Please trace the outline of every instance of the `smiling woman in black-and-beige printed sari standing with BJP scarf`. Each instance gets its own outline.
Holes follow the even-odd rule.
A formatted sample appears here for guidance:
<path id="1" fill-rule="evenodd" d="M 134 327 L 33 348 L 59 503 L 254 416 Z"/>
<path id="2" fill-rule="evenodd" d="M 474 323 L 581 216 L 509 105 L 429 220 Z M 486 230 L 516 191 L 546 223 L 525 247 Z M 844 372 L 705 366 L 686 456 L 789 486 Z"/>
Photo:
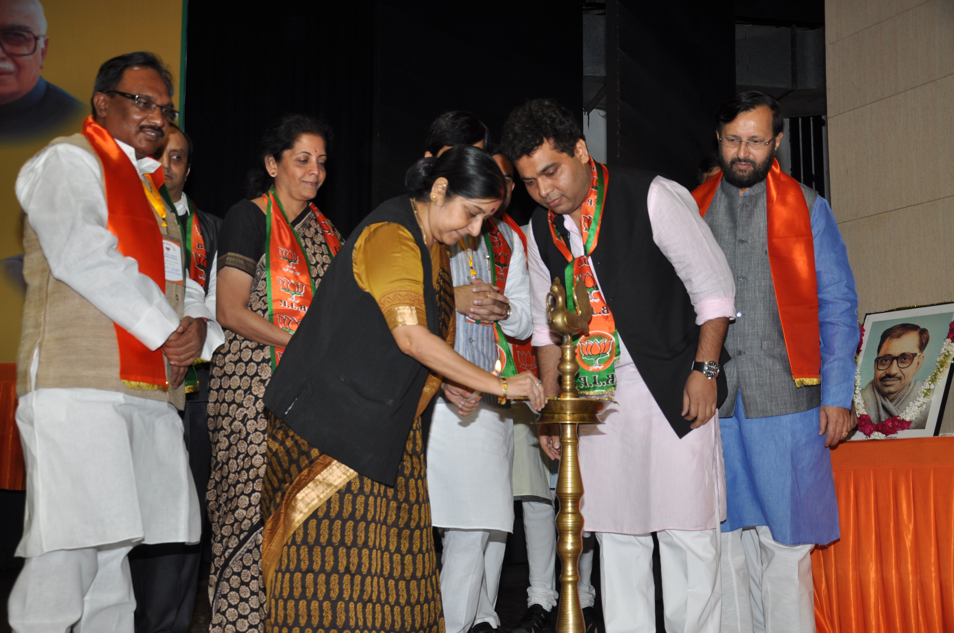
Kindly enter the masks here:
<path id="1" fill-rule="evenodd" d="M 259 572 L 267 419 L 262 396 L 341 237 L 311 200 L 324 182 L 330 129 L 282 118 L 261 142 L 251 200 L 225 217 L 218 242 L 218 322 L 225 344 L 209 389 L 212 476 L 210 630 L 263 631 Z"/>

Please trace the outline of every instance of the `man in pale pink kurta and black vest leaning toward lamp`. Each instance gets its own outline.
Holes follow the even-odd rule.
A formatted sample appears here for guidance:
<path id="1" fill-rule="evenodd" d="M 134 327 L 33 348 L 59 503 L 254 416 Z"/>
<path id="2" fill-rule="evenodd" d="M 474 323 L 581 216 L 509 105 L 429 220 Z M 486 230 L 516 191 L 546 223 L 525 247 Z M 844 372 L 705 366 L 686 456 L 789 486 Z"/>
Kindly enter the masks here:
<path id="1" fill-rule="evenodd" d="M 586 199 L 586 194 L 577 195 L 575 189 L 582 182 L 586 191 L 590 190 L 593 163 L 578 124 L 571 117 L 570 112 L 550 100 L 529 102 L 511 113 L 505 126 L 504 145 L 510 157 L 516 159 L 529 194 L 544 206 L 535 213 L 547 214 L 548 207 L 567 207 L 564 214 L 555 212 L 551 217 L 569 235 L 572 256 L 581 257 L 585 253 L 580 226 L 569 213 L 572 204 L 568 200 Z M 519 120 L 514 124 L 514 119 Z M 552 124 L 560 119 L 566 119 L 562 127 Z M 534 126 L 539 128 L 535 132 L 543 141 L 535 148 L 519 138 L 520 130 L 532 130 Z M 513 131 L 509 138 L 508 130 Z M 521 144 L 529 148 L 524 150 L 526 154 L 521 153 Z M 585 169 L 584 180 L 577 174 L 581 167 Z M 620 178 L 627 176 L 613 170 L 609 174 L 606 195 L 612 200 L 614 184 L 615 191 L 622 192 Z M 613 174 L 618 174 L 616 180 Z M 617 194 L 615 206 L 607 207 L 607 214 L 637 213 L 636 208 L 628 212 L 620 205 L 620 199 Z M 644 208 L 649 211 L 653 243 L 668 259 L 692 301 L 695 322 L 703 328 L 701 341 L 707 323 L 719 319 L 727 324 L 728 317 L 735 314 L 731 270 L 712 233 L 700 221 L 695 202 L 685 188 L 656 176 L 649 185 Z M 546 354 L 546 346 L 554 349 L 546 313 L 552 275 L 541 257 L 543 240 L 552 237 L 537 233 L 531 230 L 528 235 L 530 311 L 533 344 L 538 346 L 541 376 L 546 383 L 548 375 L 555 376 L 558 358 Z M 612 266 L 614 254 L 606 250 L 609 247 L 603 246 L 603 241 L 608 241 L 606 235 L 597 247 L 597 258 Z M 604 250 L 600 252 L 599 248 Z M 593 257 L 587 259 L 595 276 L 599 266 L 593 265 Z M 653 271 L 626 272 L 626 276 L 640 275 L 653 275 Z M 621 283 L 625 283 L 626 277 L 622 278 Z M 603 293 L 600 279 L 594 281 L 595 289 Z M 626 292 L 625 285 L 620 292 Z M 652 305 L 647 305 L 647 311 L 653 314 Z M 721 332 L 724 336 L 724 329 Z M 545 366 L 547 358 L 553 358 L 554 367 Z M 699 416 L 694 430 L 680 439 L 636 369 L 622 334 L 615 371 L 615 402 L 602 417 L 603 423 L 580 428 L 579 445 L 585 489 L 581 510 L 584 529 L 595 532 L 600 543 L 607 633 L 655 630 L 652 532 L 658 532 L 667 631 L 715 633 L 720 616 L 718 526 L 725 516 L 718 419 L 712 410 L 715 389 L 714 401 L 709 403 L 713 415 Z M 549 391 L 555 387 L 549 385 Z M 686 406 L 683 414 L 688 410 Z M 551 457 L 557 457 L 558 438 L 542 440 L 549 445 Z"/>

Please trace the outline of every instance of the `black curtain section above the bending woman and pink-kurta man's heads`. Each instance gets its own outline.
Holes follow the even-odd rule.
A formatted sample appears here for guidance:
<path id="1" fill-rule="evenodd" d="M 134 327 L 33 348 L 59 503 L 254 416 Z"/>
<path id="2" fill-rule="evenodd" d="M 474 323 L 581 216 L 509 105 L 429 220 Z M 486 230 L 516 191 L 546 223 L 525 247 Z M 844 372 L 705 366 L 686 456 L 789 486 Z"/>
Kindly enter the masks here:
<path id="1" fill-rule="evenodd" d="M 507 115 L 551 97 L 581 112 L 583 13 L 578 2 L 384 2 L 379 5 L 375 202 L 404 193 L 427 127 L 448 110 L 477 114 L 495 140 Z M 510 212 L 529 219 L 522 184 Z"/>

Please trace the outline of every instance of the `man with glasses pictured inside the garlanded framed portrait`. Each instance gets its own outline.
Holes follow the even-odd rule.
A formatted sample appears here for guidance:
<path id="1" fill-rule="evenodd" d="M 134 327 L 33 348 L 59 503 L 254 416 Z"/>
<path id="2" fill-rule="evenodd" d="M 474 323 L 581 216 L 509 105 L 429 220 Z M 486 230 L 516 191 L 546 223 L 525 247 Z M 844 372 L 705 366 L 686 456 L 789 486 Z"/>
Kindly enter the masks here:
<path id="1" fill-rule="evenodd" d="M 926 328 L 914 323 L 892 325 L 881 334 L 878 356 L 875 357 L 875 377 L 861 390 L 864 407 L 876 424 L 892 416 L 899 416 L 918 398 L 923 380 L 915 380 L 924 362 L 924 348 L 931 335 Z M 927 403 L 911 429 L 923 429 L 930 412 Z"/>

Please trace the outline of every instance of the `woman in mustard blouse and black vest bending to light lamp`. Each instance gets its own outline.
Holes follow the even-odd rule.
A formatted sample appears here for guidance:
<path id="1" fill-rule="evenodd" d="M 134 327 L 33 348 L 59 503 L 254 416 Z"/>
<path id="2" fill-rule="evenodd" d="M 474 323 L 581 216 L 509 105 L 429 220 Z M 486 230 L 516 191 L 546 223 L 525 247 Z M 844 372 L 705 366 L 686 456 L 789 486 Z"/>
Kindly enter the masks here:
<path id="1" fill-rule="evenodd" d="M 438 374 L 463 407 L 478 391 L 546 401 L 532 374 L 498 378 L 447 344 L 445 245 L 500 206 L 497 164 L 458 147 L 423 158 L 407 185 L 332 263 L 266 390 L 268 633 L 444 633 L 422 429 Z"/>

